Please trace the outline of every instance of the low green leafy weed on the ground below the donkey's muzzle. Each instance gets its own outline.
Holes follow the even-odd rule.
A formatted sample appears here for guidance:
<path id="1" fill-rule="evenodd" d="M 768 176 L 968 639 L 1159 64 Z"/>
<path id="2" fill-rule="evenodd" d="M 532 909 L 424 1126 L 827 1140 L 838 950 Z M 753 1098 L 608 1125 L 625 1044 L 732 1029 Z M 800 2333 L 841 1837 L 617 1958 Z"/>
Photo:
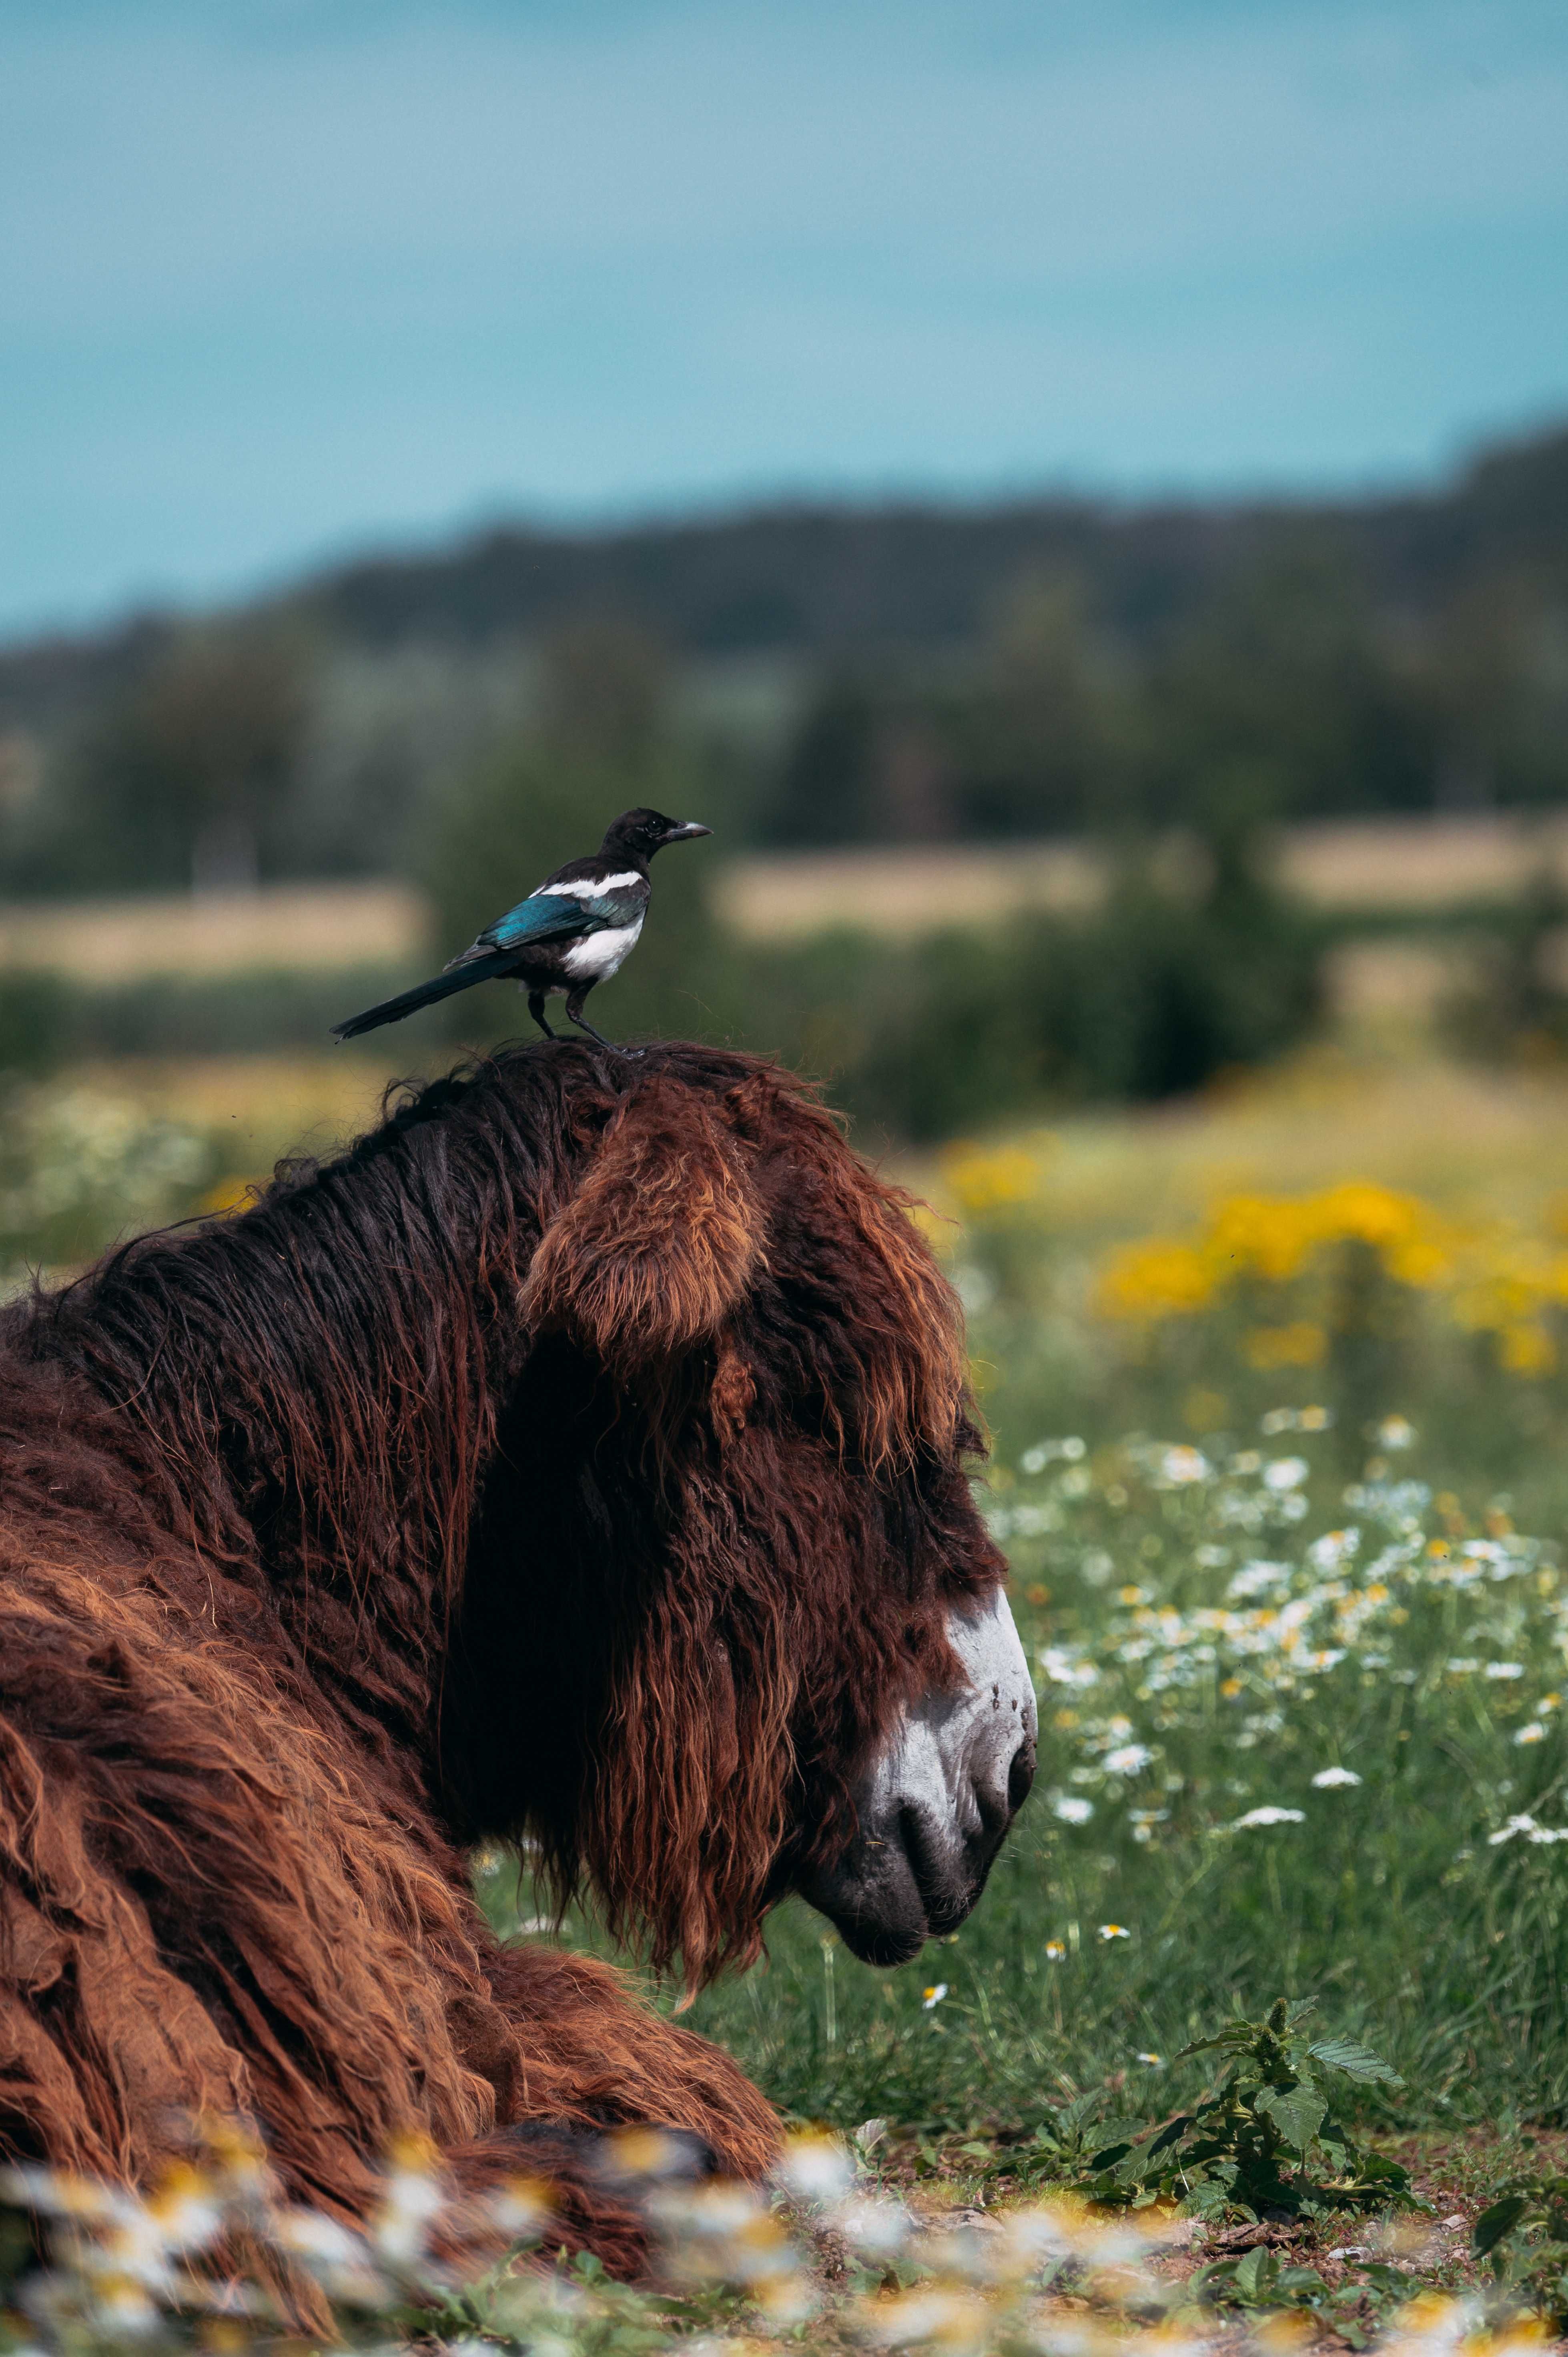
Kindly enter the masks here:
<path id="1" fill-rule="evenodd" d="M 1361 2147 L 1335 2112 L 1342 2081 L 1401 2086 L 1398 2072 L 1358 2039 L 1313 2039 L 1311 2013 L 1311 1999 L 1280 1999 L 1266 2020 L 1233 2020 L 1181 2048 L 1179 2062 L 1221 2055 L 1226 2077 L 1151 2131 L 1094 2126 L 1080 2098 L 1042 2131 L 1028 2173 L 1068 2180 L 1092 2201 L 1174 2199 L 1195 2218 L 1415 2206 L 1408 2173 Z"/>

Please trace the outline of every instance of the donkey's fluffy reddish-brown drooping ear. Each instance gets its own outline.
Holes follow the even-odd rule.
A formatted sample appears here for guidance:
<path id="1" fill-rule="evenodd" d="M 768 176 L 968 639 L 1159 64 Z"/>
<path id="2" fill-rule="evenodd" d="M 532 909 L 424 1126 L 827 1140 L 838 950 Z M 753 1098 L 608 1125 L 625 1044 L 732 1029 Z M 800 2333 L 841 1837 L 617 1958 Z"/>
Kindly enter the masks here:
<path id="1" fill-rule="evenodd" d="M 745 1148 L 705 1091 L 660 1075 L 615 1113 L 540 1237 L 523 1310 L 634 1376 L 719 1334 L 762 1244 Z"/>

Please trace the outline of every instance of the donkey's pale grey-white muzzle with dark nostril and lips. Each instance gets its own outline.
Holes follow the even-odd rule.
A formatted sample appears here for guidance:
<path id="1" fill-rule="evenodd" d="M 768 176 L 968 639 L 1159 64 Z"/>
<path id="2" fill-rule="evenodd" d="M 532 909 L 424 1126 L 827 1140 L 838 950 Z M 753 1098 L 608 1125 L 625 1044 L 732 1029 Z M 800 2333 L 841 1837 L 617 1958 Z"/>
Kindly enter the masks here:
<path id="1" fill-rule="evenodd" d="M 948 1622 L 967 1683 L 910 1704 L 858 1794 L 846 1855 L 802 1883 L 865 1963 L 964 1921 L 1035 1780 L 1035 1690 L 1004 1593 Z"/>

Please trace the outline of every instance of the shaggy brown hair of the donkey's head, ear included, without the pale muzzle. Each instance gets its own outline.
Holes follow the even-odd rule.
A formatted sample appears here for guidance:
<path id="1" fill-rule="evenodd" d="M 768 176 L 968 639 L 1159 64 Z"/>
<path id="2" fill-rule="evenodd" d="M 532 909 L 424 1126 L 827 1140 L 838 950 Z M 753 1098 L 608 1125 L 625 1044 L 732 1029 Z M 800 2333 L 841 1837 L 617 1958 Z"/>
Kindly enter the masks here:
<path id="1" fill-rule="evenodd" d="M 818 1848 L 844 1838 L 858 1756 L 915 1678 L 955 1666 L 941 1570 L 964 1577 L 974 1431 L 957 1303 L 910 1209 L 790 1075 L 665 1065 L 606 1124 L 526 1287 L 627 1386 L 622 1440 L 658 1461 L 667 1516 L 554 1864 L 693 1985 L 755 1954 L 802 1801 Z M 962 1499 L 948 1565 L 894 1560 L 891 1499 L 920 1520 L 920 1466 Z"/>

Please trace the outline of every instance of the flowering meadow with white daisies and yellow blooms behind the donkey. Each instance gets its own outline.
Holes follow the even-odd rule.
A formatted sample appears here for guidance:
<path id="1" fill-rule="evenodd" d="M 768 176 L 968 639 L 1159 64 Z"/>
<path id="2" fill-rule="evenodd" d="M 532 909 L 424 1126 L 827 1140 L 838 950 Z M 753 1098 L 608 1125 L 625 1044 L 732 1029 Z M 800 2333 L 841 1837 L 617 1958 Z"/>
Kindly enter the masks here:
<path id="1" fill-rule="evenodd" d="M 12 1273 L 243 1202 L 377 1082 L 31 1084 Z M 1568 1075 L 1363 1032 L 896 1174 L 969 1313 L 1035 1798 L 917 1963 L 872 1973 L 790 1902 L 759 1968 L 653 2001 L 889 2185 L 983 2206 L 1070 2178 L 1085 2121 L 1195 2100 L 1214 2065 L 1181 2048 L 1224 2018 L 1311 1999 L 1394 2072 L 1342 2091 L 1349 2128 L 1469 2225 L 1568 2126 Z M 479 1890 L 552 1935 L 526 1862 L 481 1857 Z"/>

